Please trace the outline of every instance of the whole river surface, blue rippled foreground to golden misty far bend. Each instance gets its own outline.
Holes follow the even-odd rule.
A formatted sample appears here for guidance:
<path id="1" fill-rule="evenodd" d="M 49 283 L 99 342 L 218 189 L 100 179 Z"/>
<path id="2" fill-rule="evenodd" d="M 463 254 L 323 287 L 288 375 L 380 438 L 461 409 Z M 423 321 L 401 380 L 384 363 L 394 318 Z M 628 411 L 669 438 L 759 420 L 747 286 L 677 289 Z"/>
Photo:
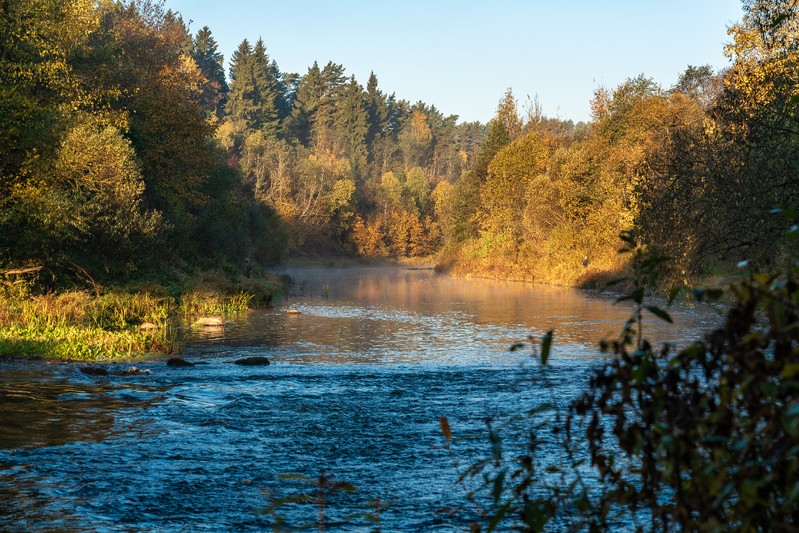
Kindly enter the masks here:
<path id="1" fill-rule="evenodd" d="M 0 530 L 252 531 L 279 517 L 318 528 L 316 504 L 266 512 L 316 495 L 285 476 L 298 474 L 357 489 L 325 498 L 328 530 L 369 530 L 379 507 L 385 531 L 462 531 L 476 509 L 457 480 L 489 453 L 484 420 L 564 409 L 607 357 L 597 342 L 629 316 L 608 296 L 426 269 L 288 273 L 287 302 L 187 330 L 182 357 L 204 363 L 193 368 L 144 361 L 147 375 L 98 378 L 71 364 L 0 365 Z M 684 343 L 719 321 L 672 315 L 673 326 L 649 320 L 647 336 Z M 549 329 L 547 367 L 508 350 Z M 249 356 L 272 364 L 233 364 Z M 557 461 L 557 437 L 543 440 Z"/>

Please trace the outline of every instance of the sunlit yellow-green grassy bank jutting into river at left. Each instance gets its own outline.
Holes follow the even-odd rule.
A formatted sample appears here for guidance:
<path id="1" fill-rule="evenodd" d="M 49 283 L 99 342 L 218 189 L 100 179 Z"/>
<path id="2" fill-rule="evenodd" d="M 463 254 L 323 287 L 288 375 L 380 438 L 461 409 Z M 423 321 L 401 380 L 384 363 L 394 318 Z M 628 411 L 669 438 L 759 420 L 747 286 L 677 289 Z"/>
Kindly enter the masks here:
<path id="1" fill-rule="evenodd" d="M 30 281 L 0 285 L 0 357 L 131 359 L 180 349 L 172 327 L 209 315 L 264 307 L 286 291 L 273 275 L 258 279 L 204 272 L 180 285 L 37 291 Z"/>

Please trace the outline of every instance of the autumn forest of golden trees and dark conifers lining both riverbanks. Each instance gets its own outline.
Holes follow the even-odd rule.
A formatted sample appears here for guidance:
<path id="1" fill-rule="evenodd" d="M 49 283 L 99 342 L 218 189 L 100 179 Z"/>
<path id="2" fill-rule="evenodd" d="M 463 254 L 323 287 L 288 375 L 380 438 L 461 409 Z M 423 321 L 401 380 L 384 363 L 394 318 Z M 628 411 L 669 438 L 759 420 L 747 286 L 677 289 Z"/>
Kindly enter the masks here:
<path id="1" fill-rule="evenodd" d="M 226 73 L 211 30 L 157 1 L 8 0 L 0 268 L 437 254 L 576 284 L 623 268 L 625 230 L 674 278 L 774 265 L 799 212 L 799 9 L 743 4 L 724 71 L 599 89 L 588 124 L 508 90 L 484 125 L 333 62 L 282 72 L 261 39 Z"/>

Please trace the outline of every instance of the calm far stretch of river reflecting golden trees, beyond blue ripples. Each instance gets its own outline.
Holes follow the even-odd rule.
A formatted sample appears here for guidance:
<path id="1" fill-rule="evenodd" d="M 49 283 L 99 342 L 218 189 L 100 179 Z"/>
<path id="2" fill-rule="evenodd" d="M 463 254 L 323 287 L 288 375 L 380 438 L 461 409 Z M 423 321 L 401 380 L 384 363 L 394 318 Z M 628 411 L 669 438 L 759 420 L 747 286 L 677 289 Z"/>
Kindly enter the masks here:
<path id="1" fill-rule="evenodd" d="M 285 309 L 255 311 L 228 327 L 225 341 L 269 346 L 312 362 L 507 364 L 513 342 L 555 330 L 555 351 L 597 357 L 630 315 L 606 295 L 564 287 L 465 280 L 432 270 L 391 267 L 295 268 Z M 327 293 L 327 297 L 324 297 Z M 685 344 L 717 317 L 707 309 L 670 311 L 674 325 L 651 317 L 645 334 L 655 342 Z M 290 353 L 280 354 L 281 348 Z M 285 352 L 285 350 L 284 350 Z"/>

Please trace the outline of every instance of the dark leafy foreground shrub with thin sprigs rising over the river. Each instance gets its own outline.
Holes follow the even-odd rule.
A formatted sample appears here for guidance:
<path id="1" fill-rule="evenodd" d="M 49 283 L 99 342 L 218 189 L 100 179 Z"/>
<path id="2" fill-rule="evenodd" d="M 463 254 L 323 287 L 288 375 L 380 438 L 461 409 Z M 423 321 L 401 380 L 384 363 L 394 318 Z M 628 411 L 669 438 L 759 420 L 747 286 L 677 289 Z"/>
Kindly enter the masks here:
<path id="1" fill-rule="evenodd" d="M 656 351 L 642 336 L 642 311 L 671 322 L 646 301 L 664 258 L 629 234 L 623 239 L 632 285 L 618 302 L 634 307 L 619 337 L 601 345 L 612 359 L 592 373 L 565 419 L 548 405 L 526 413 L 524 453 L 509 454 L 489 423 L 490 457 L 461 476 L 479 481 L 467 499 L 488 531 L 791 529 L 799 509 L 796 265 L 730 285 L 734 302 L 720 327 L 680 352 Z M 721 291 L 695 297 L 719 299 Z M 550 343 L 545 336 L 544 363 Z M 444 418 L 441 429 L 449 448 Z M 544 466 L 546 430 L 563 439 L 556 465 Z"/>

